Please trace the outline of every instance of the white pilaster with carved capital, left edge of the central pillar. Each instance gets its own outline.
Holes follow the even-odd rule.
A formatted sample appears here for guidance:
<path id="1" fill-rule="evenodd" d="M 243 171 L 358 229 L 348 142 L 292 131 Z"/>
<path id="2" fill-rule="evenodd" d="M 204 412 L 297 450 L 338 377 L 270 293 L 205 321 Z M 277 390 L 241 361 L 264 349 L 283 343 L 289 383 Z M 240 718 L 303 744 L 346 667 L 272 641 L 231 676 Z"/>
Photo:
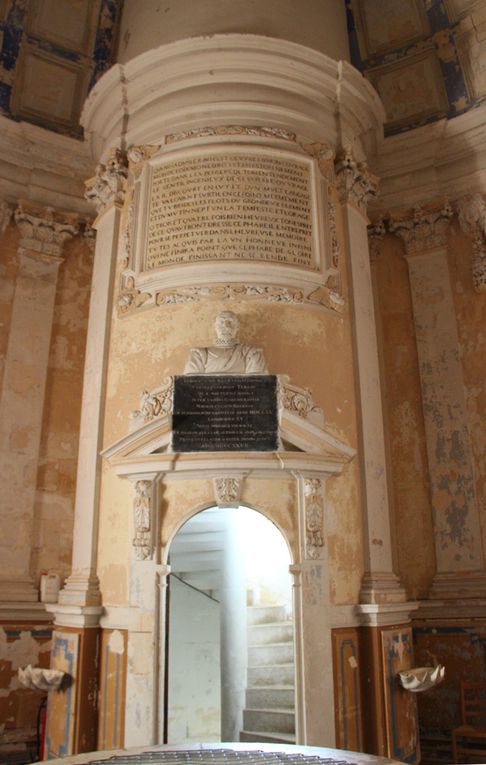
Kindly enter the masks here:
<path id="1" fill-rule="evenodd" d="M 65 625 L 69 624 L 69 614 L 76 616 L 79 624 L 79 609 L 97 608 L 101 599 L 96 575 L 100 450 L 113 270 L 118 251 L 120 208 L 124 199 L 126 176 L 126 163 L 121 153 L 115 151 L 106 165 L 98 167 L 95 178 L 87 183 L 86 196 L 96 204 L 98 217 L 93 223 L 97 237 L 81 408 L 73 562 L 72 573 L 61 590 L 59 604 L 51 609 L 56 613 L 57 623 L 62 620 Z"/>

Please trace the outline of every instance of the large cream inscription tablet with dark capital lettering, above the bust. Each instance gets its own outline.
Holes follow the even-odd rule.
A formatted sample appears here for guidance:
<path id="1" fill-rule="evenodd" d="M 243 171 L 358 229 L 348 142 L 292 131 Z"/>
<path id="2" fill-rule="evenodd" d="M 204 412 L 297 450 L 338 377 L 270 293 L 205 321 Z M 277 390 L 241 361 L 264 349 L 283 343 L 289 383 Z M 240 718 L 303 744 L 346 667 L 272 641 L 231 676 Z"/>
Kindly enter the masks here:
<path id="1" fill-rule="evenodd" d="M 307 161 L 225 152 L 154 169 L 143 270 L 229 259 L 317 268 Z"/>

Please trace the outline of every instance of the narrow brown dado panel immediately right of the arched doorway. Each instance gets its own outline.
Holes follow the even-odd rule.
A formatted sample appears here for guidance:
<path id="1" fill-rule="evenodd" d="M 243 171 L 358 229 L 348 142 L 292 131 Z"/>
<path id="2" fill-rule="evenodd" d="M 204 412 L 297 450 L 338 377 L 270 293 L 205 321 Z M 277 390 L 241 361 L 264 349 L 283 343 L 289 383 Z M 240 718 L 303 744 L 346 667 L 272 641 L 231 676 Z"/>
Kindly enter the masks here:
<path id="1" fill-rule="evenodd" d="M 359 631 L 356 627 L 332 631 L 336 746 L 363 749 Z"/>

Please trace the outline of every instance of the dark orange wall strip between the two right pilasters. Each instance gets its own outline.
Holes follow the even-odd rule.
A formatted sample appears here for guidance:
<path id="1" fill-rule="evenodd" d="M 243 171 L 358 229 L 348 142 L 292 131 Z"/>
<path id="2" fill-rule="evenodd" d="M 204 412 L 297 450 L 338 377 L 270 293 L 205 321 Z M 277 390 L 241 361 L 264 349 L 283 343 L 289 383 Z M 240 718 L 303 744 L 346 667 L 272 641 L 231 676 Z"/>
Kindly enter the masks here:
<path id="1" fill-rule="evenodd" d="M 397 573 L 409 598 L 424 598 L 435 573 L 434 532 L 412 302 L 400 241 L 386 237 L 372 272 Z"/>

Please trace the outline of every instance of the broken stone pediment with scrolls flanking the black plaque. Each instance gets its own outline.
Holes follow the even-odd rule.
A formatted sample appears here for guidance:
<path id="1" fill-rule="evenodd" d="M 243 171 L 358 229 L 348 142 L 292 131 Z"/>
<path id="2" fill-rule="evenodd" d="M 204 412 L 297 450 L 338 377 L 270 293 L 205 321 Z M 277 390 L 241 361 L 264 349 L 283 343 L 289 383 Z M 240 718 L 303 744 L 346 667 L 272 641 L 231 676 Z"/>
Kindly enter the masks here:
<path id="1" fill-rule="evenodd" d="M 173 378 L 152 391 L 143 391 L 140 408 L 130 415 L 129 432 L 103 451 L 119 475 L 199 473 L 202 470 L 319 471 L 340 473 L 355 450 L 325 426 L 324 415 L 309 390 L 278 376 L 279 449 L 272 452 L 173 452 Z"/>

